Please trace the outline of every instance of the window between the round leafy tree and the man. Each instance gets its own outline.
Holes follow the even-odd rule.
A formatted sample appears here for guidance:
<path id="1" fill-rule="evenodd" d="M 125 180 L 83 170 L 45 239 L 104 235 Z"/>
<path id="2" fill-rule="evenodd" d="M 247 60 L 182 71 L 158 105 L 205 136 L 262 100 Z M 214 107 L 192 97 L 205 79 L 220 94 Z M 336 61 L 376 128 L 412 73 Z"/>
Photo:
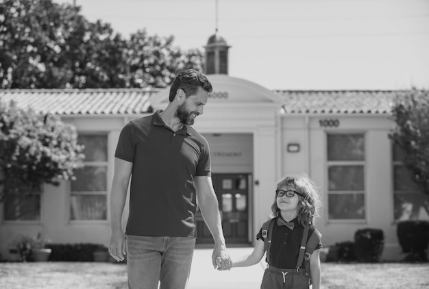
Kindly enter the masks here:
<path id="1" fill-rule="evenodd" d="M 108 136 L 79 134 L 84 145 L 84 167 L 71 181 L 70 219 L 107 220 Z"/>

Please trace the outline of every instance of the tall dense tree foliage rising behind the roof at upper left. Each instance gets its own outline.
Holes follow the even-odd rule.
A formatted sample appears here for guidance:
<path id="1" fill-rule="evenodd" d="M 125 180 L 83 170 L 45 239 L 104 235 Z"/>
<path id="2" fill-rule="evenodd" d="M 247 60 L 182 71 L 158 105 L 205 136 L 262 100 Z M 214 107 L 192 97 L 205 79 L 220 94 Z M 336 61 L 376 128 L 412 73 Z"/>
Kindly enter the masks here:
<path id="1" fill-rule="evenodd" d="M 0 31 L 0 88 L 164 87 L 180 69 L 203 68 L 201 51 L 173 36 L 141 29 L 126 40 L 52 0 L 3 1 Z"/>

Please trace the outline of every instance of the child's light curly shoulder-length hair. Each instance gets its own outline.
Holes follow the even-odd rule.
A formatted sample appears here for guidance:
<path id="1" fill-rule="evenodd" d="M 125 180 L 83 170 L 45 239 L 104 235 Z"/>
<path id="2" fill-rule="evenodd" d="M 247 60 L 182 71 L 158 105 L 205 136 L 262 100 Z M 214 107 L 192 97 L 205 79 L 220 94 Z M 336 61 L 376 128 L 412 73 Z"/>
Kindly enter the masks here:
<path id="1" fill-rule="evenodd" d="M 321 197 L 317 186 L 315 183 L 308 177 L 306 174 L 301 175 L 288 175 L 284 177 L 277 184 L 277 189 L 280 189 L 284 186 L 290 186 L 294 188 L 299 194 L 302 194 L 305 197 L 302 197 L 298 194 L 298 212 L 297 218 L 299 225 L 309 226 L 314 225 L 315 218 L 319 217 L 319 210 L 321 207 Z M 271 205 L 271 211 L 274 216 L 279 216 L 280 209 L 277 206 L 277 201 L 274 196 L 274 202 Z"/>

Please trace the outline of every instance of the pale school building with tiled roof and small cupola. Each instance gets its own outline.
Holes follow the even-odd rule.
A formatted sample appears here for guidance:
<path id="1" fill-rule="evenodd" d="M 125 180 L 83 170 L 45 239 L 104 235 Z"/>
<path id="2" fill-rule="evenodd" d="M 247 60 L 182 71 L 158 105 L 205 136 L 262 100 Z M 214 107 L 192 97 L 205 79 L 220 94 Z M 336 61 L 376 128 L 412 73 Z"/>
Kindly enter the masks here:
<path id="1" fill-rule="evenodd" d="M 195 121 L 212 157 L 227 245 L 254 244 L 271 213 L 277 181 L 307 173 L 323 197 L 317 228 L 325 247 L 353 240 L 357 229 L 384 231 L 383 260 L 402 260 L 398 221 L 428 220 L 428 198 L 409 180 L 389 140 L 392 90 L 267 90 L 228 75 L 226 41 L 206 45 L 214 91 Z M 58 114 L 77 127 L 86 146 L 77 180 L 45 184 L 25 202 L 0 204 L 0 252 L 17 234 L 38 232 L 53 243 L 107 244 L 114 150 L 128 121 L 164 109 L 169 88 L 1 90 L 3 101 Z M 168 165 L 168 164 L 167 164 Z M 27 212 L 23 214 L 23 212 Z M 125 226 L 127 205 L 123 216 Z M 197 244 L 212 242 L 197 212 Z"/>

